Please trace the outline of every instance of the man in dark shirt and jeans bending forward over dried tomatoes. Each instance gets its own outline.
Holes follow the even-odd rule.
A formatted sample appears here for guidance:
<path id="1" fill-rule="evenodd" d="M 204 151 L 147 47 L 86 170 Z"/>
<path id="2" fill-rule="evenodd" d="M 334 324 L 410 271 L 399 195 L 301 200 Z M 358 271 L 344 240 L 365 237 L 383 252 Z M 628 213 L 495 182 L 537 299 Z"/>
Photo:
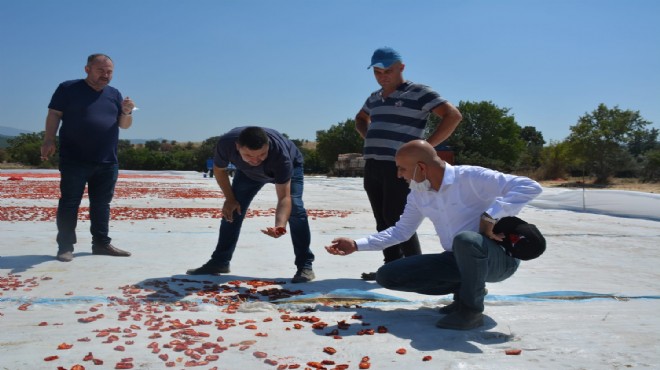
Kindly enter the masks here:
<path id="1" fill-rule="evenodd" d="M 230 184 L 227 166 L 233 163 L 236 174 Z M 225 195 L 218 244 L 211 259 L 188 275 L 229 273 L 241 225 L 252 199 L 266 183 L 277 192 L 275 224 L 262 232 L 273 238 L 291 227 L 297 272 L 292 283 L 314 279 L 314 254 L 309 248 L 310 231 L 303 196 L 303 157 L 295 144 L 279 132 L 261 127 L 237 127 L 224 134 L 215 147 L 213 173 Z"/>

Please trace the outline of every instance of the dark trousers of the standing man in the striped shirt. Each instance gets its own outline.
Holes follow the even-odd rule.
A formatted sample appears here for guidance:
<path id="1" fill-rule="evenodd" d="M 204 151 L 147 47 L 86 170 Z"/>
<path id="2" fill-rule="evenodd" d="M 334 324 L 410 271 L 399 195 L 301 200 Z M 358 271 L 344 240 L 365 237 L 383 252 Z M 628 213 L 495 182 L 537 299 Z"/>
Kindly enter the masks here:
<path id="1" fill-rule="evenodd" d="M 408 197 L 408 183 L 397 177 L 393 161 L 367 159 L 364 166 L 364 190 L 376 219 L 376 230 L 383 231 L 399 221 Z M 417 233 L 403 243 L 383 250 L 385 263 L 421 254 Z"/>

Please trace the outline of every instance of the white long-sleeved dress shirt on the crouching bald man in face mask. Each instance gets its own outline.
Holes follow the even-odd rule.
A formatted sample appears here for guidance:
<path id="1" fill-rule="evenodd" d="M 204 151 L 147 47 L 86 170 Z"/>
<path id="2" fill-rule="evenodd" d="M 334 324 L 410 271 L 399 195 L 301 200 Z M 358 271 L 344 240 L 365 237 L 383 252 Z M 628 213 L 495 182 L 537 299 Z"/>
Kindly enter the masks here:
<path id="1" fill-rule="evenodd" d="M 438 191 L 411 190 L 406 208 L 394 226 L 355 242 L 359 251 L 383 250 L 410 239 L 428 217 L 442 247 L 451 251 L 456 234 L 479 231 L 482 213 L 496 219 L 514 216 L 541 191 L 541 185 L 527 177 L 446 163 Z"/>

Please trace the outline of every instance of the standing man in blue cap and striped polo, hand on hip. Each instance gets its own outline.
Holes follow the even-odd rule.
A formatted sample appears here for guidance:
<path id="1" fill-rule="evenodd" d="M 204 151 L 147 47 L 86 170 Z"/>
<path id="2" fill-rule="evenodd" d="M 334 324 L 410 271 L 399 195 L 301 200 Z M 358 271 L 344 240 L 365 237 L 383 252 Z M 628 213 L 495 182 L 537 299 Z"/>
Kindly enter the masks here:
<path id="1" fill-rule="evenodd" d="M 376 229 L 385 230 L 399 220 L 406 205 L 408 183 L 397 177 L 394 156 L 411 140 L 424 139 L 431 112 L 442 119 L 426 140 L 439 145 L 451 135 L 463 118 L 461 113 L 437 92 L 403 78 L 401 55 L 389 47 L 377 49 L 371 57 L 376 81 L 381 89 L 373 92 L 355 117 L 355 128 L 364 138 L 364 190 L 376 219 Z M 383 250 L 385 263 L 421 253 L 417 234 Z M 363 273 L 375 280 L 375 273 Z"/>

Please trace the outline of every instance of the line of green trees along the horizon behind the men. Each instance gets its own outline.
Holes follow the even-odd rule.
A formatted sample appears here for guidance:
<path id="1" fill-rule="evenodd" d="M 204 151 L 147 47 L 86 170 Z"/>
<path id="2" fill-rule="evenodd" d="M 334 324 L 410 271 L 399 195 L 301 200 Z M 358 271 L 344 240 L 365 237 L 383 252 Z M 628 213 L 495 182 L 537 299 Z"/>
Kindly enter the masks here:
<path id="1" fill-rule="evenodd" d="M 535 127 L 521 127 L 509 108 L 489 101 L 461 101 L 458 109 L 463 121 L 443 143 L 454 152 L 456 164 L 525 174 L 537 180 L 566 176 L 593 176 L 597 184 L 606 184 L 612 177 L 660 180 L 659 132 L 648 128 L 652 123 L 639 111 L 600 104 L 577 119 L 566 139 L 546 143 Z M 440 117 L 432 115 L 426 133 L 441 123 Z M 43 132 L 21 134 L 9 139 L 9 146 L 0 149 L 0 161 L 56 168 L 57 156 L 48 161 L 40 158 L 43 135 Z M 201 143 L 151 140 L 131 144 L 129 140 L 119 140 L 119 166 L 126 170 L 205 172 L 206 160 L 213 157 L 217 140 L 218 136 Z M 306 173 L 328 175 L 333 174 L 339 154 L 360 153 L 363 145 L 353 119 L 317 131 L 315 148 L 306 145 L 307 140 L 292 141 L 305 157 Z"/>

